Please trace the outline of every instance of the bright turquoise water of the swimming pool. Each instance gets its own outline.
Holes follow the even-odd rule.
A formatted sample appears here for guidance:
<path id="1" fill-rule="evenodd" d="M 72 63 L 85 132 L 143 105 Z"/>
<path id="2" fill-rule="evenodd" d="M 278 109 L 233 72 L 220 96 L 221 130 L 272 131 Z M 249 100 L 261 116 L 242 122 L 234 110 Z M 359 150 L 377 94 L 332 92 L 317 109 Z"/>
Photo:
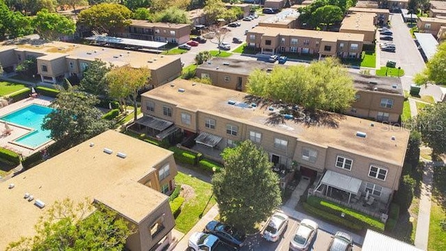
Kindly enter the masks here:
<path id="1" fill-rule="evenodd" d="M 49 137 L 49 130 L 43 130 L 43 118 L 47 116 L 54 109 L 51 107 L 45 107 L 43 105 L 29 105 L 18 109 L 15 112 L 7 114 L 0 117 L 3 121 L 8 121 L 10 123 L 15 123 L 20 126 L 25 126 L 27 128 L 33 128 L 34 130 L 28 134 L 15 139 L 14 142 L 28 146 L 31 149 L 36 149 L 38 146 L 45 144 L 51 140 Z"/>

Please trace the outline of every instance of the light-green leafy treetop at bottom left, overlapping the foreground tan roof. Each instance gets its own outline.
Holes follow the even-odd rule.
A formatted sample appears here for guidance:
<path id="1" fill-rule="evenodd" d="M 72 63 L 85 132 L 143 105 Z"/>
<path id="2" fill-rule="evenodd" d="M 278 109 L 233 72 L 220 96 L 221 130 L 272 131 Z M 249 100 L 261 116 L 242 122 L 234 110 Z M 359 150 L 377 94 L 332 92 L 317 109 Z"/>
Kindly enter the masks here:
<path id="1" fill-rule="evenodd" d="M 22 237 L 6 250 L 119 251 L 134 232 L 116 212 L 99 203 L 93 206 L 88 199 L 78 204 L 70 199 L 54 202 L 35 228 L 36 236 Z"/>

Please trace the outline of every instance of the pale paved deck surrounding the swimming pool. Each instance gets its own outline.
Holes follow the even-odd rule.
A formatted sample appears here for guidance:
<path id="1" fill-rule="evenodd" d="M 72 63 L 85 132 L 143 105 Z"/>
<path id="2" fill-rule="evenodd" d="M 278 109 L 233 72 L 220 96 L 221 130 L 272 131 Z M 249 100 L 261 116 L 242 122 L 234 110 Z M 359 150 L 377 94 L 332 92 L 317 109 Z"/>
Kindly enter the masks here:
<path id="1" fill-rule="evenodd" d="M 14 112 L 17 109 L 21 109 L 22 107 L 26 107 L 27 105 L 37 104 L 37 105 L 45 105 L 49 106 L 49 104 L 54 100 L 54 98 L 49 98 L 45 96 L 38 96 L 38 98 L 25 98 L 23 100 L 17 101 L 13 104 L 10 104 L 6 107 L 0 108 L 0 116 L 9 114 L 10 112 Z M 3 130 L 5 130 L 5 123 L 0 122 L 0 146 L 6 149 L 10 149 L 11 151 L 15 151 L 16 153 L 22 154 L 24 157 L 29 156 L 33 153 L 36 153 L 36 151 L 40 151 L 40 149 L 45 148 L 45 146 L 48 146 L 49 144 L 52 144 L 54 141 L 48 142 L 47 144 L 44 144 L 43 146 L 40 146 L 38 149 L 27 149 L 22 146 L 18 146 L 17 144 L 12 144 L 14 139 L 17 139 L 18 137 L 22 137 L 26 133 L 29 132 L 29 130 L 11 125 L 8 123 L 8 126 L 10 129 L 12 129 L 12 132 L 10 135 L 3 135 Z"/>

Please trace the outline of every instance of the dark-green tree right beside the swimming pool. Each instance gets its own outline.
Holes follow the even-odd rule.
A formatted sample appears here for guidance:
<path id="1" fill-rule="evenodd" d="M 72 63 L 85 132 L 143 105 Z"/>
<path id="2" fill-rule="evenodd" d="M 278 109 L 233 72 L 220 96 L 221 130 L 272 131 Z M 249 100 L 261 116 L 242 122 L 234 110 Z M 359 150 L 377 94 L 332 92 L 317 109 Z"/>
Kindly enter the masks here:
<path id="1" fill-rule="evenodd" d="M 45 116 L 42 128 L 51 130 L 56 141 L 75 145 L 110 128 L 109 121 L 101 119 L 101 112 L 94 105 L 98 98 L 81 91 L 61 91 L 52 102 L 54 111 Z"/>

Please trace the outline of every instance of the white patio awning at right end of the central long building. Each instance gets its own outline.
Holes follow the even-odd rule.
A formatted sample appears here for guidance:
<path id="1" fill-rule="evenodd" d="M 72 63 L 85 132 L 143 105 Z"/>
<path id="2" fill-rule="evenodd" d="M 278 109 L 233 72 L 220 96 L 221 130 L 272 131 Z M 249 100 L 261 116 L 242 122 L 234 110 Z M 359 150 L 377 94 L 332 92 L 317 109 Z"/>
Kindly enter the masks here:
<path id="1" fill-rule="evenodd" d="M 321 183 L 356 195 L 360 190 L 362 181 L 358 178 L 327 170 L 322 177 Z"/>

